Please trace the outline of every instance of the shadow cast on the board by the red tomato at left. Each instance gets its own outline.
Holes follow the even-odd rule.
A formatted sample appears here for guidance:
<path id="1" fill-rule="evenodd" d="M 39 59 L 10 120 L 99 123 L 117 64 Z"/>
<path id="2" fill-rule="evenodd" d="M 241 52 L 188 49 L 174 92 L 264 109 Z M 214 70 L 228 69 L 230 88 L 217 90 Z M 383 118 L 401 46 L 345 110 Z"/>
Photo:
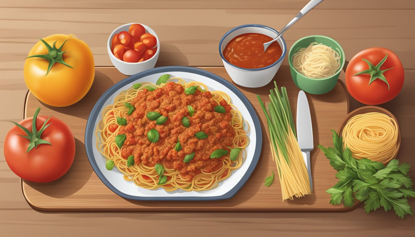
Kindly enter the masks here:
<path id="1" fill-rule="evenodd" d="M 75 159 L 71 168 L 61 177 L 49 183 L 36 183 L 24 180 L 31 188 L 54 198 L 64 198 L 80 190 L 91 177 L 93 169 L 85 152 L 85 145 L 75 139 Z"/>

